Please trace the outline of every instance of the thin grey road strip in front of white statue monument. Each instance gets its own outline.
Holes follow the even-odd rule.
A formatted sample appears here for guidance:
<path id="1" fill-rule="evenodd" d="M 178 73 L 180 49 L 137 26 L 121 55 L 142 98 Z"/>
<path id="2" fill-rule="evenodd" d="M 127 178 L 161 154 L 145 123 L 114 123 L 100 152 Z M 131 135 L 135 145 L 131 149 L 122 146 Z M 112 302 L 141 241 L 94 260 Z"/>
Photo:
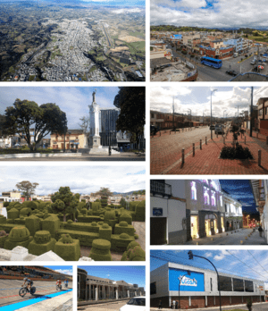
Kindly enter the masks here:
<path id="1" fill-rule="evenodd" d="M 68 156 L 68 157 L 21 157 L 13 159 L 1 159 L 3 161 L 145 161 L 145 155 L 81 155 L 80 157 Z"/>

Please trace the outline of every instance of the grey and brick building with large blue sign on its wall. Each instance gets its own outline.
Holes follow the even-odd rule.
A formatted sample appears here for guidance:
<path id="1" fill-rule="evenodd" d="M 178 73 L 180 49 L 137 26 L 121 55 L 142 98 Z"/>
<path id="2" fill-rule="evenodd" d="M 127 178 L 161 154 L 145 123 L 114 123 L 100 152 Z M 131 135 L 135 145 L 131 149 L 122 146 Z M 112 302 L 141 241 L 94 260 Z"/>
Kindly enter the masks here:
<path id="1" fill-rule="evenodd" d="M 182 309 L 219 307 L 217 274 L 211 270 L 189 265 L 167 263 L 151 272 L 151 307 L 172 307 L 172 301 L 179 302 Z M 237 275 L 219 273 L 222 306 L 264 302 L 264 282 Z"/>

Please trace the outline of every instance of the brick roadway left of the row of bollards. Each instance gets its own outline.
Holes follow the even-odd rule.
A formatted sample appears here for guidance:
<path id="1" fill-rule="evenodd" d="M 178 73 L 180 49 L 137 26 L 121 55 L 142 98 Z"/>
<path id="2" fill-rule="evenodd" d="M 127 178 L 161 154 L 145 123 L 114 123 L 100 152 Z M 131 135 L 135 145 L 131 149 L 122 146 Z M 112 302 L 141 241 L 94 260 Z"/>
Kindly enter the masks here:
<path id="1" fill-rule="evenodd" d="M 182 148 L 192 147 L 193 143 L 196 143 L 196 148 L 199 148 L 198 142 L 202 139 L 204 143 L 205 137 L 207 139 L 211 137 L 211 131 L 207 126 L 151 138 L 151 173 L 155 173 L 156 167 L 158 173 L 163 173 L 180 159 Z"/>

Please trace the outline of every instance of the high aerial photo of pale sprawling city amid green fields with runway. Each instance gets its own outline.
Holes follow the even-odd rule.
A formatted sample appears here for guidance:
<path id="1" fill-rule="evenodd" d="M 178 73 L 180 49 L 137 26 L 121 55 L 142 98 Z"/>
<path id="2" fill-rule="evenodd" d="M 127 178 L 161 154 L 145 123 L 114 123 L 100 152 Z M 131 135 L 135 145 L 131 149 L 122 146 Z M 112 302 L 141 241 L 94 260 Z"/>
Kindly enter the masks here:
<path id="1" fill-rule="evenodd" d="M 145 80 L 145 2 L 0 2 L 0 80 Z"/>

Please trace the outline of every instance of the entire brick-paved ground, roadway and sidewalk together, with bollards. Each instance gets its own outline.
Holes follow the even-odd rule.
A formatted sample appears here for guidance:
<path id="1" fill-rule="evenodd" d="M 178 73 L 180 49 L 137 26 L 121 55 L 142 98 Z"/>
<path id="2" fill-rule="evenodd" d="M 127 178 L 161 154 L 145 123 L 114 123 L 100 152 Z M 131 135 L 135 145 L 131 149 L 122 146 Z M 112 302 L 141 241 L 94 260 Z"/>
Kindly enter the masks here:
<path id="1" fill-rule="evenodd" d="M 199 131 L 199 130 L 197 130 Z M 199 132 L 200 133 L 200 132 Z M 182 133 L 181 133 L 182 134 Z M 185 133 L 184 133 L 185 134 Z M 182 135 L 184 135 L 182 134 Z M 203 134 L 203 132 L 202 132 Z M 177 134 L 178 135 L 178 134 Z M 254 134 L 255 135 L 255 134 Z M 172 137 L 172 135 L 170 135 Z M 207 135 L 206 135 L 207 136 Z M 175 138 L 175 135 L 173 135 Z M 201 133 L 199 134 L 201 137 Z M 155 140 L 154 140 L 155 139 Z M 267 174 L 268 173 L 268 150 L 264 146 L 264 139 L 257 141 L 255 138 L 250 138 L 246 134 L 246 145 L 244 143 L 244 136 L 239 137 L 239 143 L 243 147 L 248 147 L 252 152 L 253 160 L 228 160 L 220 159 L 219 155 L 222 150 L 223 138 L 219 136 L 213 140 L 209 140 L 207 145 L 199 147 L 199 139 L 196 140 L 196 154 L 192 155 L 192 144 L 190 147 L 185 148 L 185 164 L 181 165 L 181 149 L 182 147 L 170 148 L 169 144 L 173 145 L 171 139 L 166 139 L 164 136 L 161 138 L 151 139 L 151 174 Z M 158 139 L 165 139 L 160 141 Z M 181 137 L 178 136 L 180 141 Z M 152 147 L 152 140 L 154 144 Z M 225 140 L 225 146 L 231 146 L 232 134 L 229 133 Z M 192 141 L 193 142 L 193 141 Z M 178 144 L 179 146 L 179 144 Z M 158 155 L 155 157 L 156 149 L 158 153 L 162 154 L 162 148 L 165 150 L 163 156 Z M 262 164 L 258 166 L 258 150 L 262 150 Z M 153 153 L 153 157 L 152 157 Z"/>

